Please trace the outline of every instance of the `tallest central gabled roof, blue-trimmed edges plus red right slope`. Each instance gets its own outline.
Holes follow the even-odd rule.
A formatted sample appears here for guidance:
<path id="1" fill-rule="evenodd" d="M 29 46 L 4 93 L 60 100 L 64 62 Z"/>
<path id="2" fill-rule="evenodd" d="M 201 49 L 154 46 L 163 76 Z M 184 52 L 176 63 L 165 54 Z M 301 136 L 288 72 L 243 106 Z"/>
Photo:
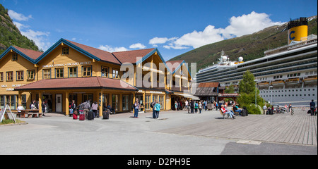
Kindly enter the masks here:
<path id="1" fill-rule="evenodd" d="M 66 44 L 67 46 L 70 46 L 71 48 L 75 49 L 76 51 L 80 52 L 81 54 L 88 56 L 89 58 L 95 59 L 96 61 L 105 61 L 108 63 L 114 63 L 117 65 L 120 65 L 121 63 L 117 60 L 116 57 L 112 55 L 112 53 L 108 51 L 103 51 L 100 49 L 96 49 L 90 46 L 86 46 L 84 44 L 78 44 L 76 42 L 71 42 L 70 40 L 66 39 L 59 39 L 57 43 L 55 43 L 53 46 L 51 46 L 47 51 L 45 51 L 40 58 L 37 58 L 36 63 L 42 60 L 42 58 L 45 58 L 51 51 L 53 51 L 59 44 L 61 43 Z"/>

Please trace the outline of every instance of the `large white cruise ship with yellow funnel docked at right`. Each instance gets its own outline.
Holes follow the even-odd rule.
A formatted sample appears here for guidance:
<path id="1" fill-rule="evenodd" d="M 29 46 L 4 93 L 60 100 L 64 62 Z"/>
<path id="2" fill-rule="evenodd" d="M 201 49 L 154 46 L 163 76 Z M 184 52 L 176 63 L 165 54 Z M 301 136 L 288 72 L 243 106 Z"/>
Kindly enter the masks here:
<path id="1" fill-rule="evenodd" d="M 305 32 L 305 33 L 304 33 Z M 259 95 L 271 104 L 317 104 L 317 35 L 307 36 L 307 18 L 288 23 L 288 45 L 264 52 L 252 61 L 229 61 L 221 52 L 220 61 L 196 73 L 196 82 L 220 82 L 220 86 L 238 84 L 249 70 L 257 79 Z"/>

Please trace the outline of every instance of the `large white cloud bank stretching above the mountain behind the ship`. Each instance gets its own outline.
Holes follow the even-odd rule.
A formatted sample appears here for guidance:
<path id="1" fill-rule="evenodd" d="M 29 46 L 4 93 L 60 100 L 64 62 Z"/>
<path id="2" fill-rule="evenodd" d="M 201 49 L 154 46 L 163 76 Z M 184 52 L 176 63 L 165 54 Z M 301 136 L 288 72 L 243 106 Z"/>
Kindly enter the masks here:
<path id="1" fill-rule="evenodd" d="M 189 46 L 198 48 L 206 44 L 252 34 L 266 27 L 282 24 L 281 22 L 274 23 L 266 13 L 256 13 L 254 11 L 248 15 L 232 16 L 229 23 L 230 25 L 225 28 L 216 28 L 213 25 L 208 25 L 203 31 L 194 30 L 179 38 L 154 37 L 149 40 L 149 44 L 165 44 L 163 46 L 165 49 L 187 49 Z"/>

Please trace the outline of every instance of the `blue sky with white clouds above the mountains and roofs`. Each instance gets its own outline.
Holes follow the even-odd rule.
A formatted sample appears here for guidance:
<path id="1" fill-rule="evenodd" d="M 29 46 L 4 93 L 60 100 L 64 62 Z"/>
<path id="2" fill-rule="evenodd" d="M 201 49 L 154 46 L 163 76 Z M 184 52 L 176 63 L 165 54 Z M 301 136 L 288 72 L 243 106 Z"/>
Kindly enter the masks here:
<path id="1" fill-rule="evenodd" d="M 105 51 L 158 48 L 165 61 L 200 46 L 317 15 L 317 0 L 0 0 L 43 51 L 64 38 Z"/>

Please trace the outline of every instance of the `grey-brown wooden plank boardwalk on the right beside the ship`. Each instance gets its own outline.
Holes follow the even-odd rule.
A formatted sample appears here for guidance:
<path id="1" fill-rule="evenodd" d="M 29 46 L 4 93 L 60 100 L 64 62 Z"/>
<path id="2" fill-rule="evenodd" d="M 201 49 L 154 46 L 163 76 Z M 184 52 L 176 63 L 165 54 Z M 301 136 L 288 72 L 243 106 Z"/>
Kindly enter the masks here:
<path id="1" fill-rule="evenodd" d="M 317 116 L 294 108 L 295 114 L 248 115 L 235 120 L 215 118 L 204 123 L 159 132 L 257 142 L 317 146 Z"/>

